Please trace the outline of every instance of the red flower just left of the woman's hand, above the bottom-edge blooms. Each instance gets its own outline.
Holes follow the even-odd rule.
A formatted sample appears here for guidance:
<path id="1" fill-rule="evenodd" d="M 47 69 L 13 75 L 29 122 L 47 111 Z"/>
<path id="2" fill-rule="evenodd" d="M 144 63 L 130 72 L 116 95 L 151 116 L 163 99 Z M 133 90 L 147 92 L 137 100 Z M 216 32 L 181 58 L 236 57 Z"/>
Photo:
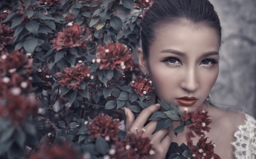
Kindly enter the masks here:
<path id="1" fill-rule="evenodd" d="M 88 124 L 89 132 L 92 139 L 98 136 L 103 137 L 106 141 L 117 141 L 117 133 L 119 132 L 119 119 L 113 119 L 109 115 L 100 114 L 93 119 L 92 123 Z"/>

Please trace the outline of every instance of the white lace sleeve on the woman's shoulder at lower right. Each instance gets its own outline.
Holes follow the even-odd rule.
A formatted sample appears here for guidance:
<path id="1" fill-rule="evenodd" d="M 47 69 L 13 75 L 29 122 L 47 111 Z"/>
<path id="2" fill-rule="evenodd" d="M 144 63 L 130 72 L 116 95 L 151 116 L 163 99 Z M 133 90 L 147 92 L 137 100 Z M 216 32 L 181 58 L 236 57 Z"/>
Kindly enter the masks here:
<path id="1" fill-rule="evenodd" d="M 236 140 L 234 146 L 234 156 L 237 159 L 256 158 L 256 121 L 250 115 L 245 114 L 245 124 L 238 126 L 234 134 Z"/>

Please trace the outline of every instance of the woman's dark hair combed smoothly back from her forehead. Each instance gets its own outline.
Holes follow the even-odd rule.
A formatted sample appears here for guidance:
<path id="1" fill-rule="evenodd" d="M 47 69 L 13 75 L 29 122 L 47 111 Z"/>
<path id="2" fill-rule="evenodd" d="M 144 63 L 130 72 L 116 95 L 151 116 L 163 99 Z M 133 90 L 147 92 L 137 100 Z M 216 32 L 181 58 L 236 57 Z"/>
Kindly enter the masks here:
<path id="1" fill-rule="evenodd" d="M 192 23 L 204 23 L 216 29 L 220 36 L 221 25 L 217 12 L 208 0 L 156 0 L 143 18 L 141 40 L 144 57 L 155 40 L 155 29 L 160 25 L 187 19 Z"/>

